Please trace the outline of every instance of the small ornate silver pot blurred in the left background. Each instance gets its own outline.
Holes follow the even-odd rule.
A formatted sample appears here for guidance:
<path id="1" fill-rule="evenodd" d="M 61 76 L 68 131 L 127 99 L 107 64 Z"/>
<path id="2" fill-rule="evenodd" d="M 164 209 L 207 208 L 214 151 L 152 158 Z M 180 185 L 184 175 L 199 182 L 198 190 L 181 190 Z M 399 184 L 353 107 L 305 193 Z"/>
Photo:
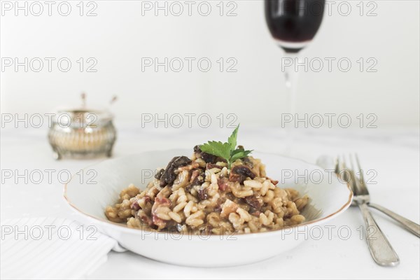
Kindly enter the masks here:
<path id="1" fill-rule="evenodd" d="M 48 140 L 56 160 L 111 157 L 116 141 L 109 111 L 61 110 L 52 118 Z"/>

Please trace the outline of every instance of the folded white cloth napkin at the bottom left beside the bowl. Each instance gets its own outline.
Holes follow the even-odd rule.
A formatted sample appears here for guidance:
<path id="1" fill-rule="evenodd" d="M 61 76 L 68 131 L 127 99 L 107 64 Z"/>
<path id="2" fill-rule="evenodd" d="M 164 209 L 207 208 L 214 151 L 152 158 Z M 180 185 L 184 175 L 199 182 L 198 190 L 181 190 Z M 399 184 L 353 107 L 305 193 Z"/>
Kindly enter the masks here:
<path id="1" fill-rule="evenodd" d="M 64 218 L 1 221 L 1 279 L 79 279 L 107 260 L 116 240 Z"/>

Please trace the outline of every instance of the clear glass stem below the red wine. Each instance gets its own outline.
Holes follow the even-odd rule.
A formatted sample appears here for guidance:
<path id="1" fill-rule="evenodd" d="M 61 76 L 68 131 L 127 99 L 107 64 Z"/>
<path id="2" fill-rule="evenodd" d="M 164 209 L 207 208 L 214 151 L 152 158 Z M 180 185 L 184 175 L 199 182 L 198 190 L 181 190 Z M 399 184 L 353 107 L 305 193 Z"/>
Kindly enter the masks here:
<path id="1" fill-rule="evenodd" d="M 299 76 L 297 63 L 299 57 L 296 53 L 286 52 L 283 63 L 284 78 L 286 80 L 286 116 L 284 120 L 290 120 L 286 125 L 286 155 L 292 155 L 292 144 L 295 140 L 295 120 L 296 116 L 296 98 L 297 98 L 297 78 Z M 290 65 L 291 64 L 291 65 Z M 286 66 L 290 65 L 290 66 Z"/>

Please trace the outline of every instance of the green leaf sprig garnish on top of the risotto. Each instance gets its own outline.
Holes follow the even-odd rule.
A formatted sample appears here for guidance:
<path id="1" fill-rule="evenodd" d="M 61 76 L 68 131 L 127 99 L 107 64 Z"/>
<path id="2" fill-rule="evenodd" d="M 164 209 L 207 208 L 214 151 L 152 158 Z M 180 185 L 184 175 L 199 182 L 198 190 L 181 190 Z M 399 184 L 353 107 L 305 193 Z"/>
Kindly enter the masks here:
<path id="1" fill-rule="evenodd" d="M 201 151 L 224 158 L 228 162 L 228 167 L 230 169 L 235 160 L 246 158 L 250 153 L 252 153 L 252 151 L 245 151 L 244 148 L 236 148 L 238 130 L 239 125 L 232 132 L 232 135 L 228 138 L 227 143 L 222 143 L 221 141 L 209 141 L 200 146 Z"/>

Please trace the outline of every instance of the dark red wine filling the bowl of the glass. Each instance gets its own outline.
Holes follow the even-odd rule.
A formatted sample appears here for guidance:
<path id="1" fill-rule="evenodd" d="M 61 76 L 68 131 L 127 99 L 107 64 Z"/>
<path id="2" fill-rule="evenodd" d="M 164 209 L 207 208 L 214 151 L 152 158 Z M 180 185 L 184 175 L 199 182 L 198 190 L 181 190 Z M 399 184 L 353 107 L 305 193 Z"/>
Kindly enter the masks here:
<path id="1" fill-rule="evenodd" d="M 325 0 L 265 0 L 265 20 L 286 52 L 298 52 L 321 25 Z"/>

